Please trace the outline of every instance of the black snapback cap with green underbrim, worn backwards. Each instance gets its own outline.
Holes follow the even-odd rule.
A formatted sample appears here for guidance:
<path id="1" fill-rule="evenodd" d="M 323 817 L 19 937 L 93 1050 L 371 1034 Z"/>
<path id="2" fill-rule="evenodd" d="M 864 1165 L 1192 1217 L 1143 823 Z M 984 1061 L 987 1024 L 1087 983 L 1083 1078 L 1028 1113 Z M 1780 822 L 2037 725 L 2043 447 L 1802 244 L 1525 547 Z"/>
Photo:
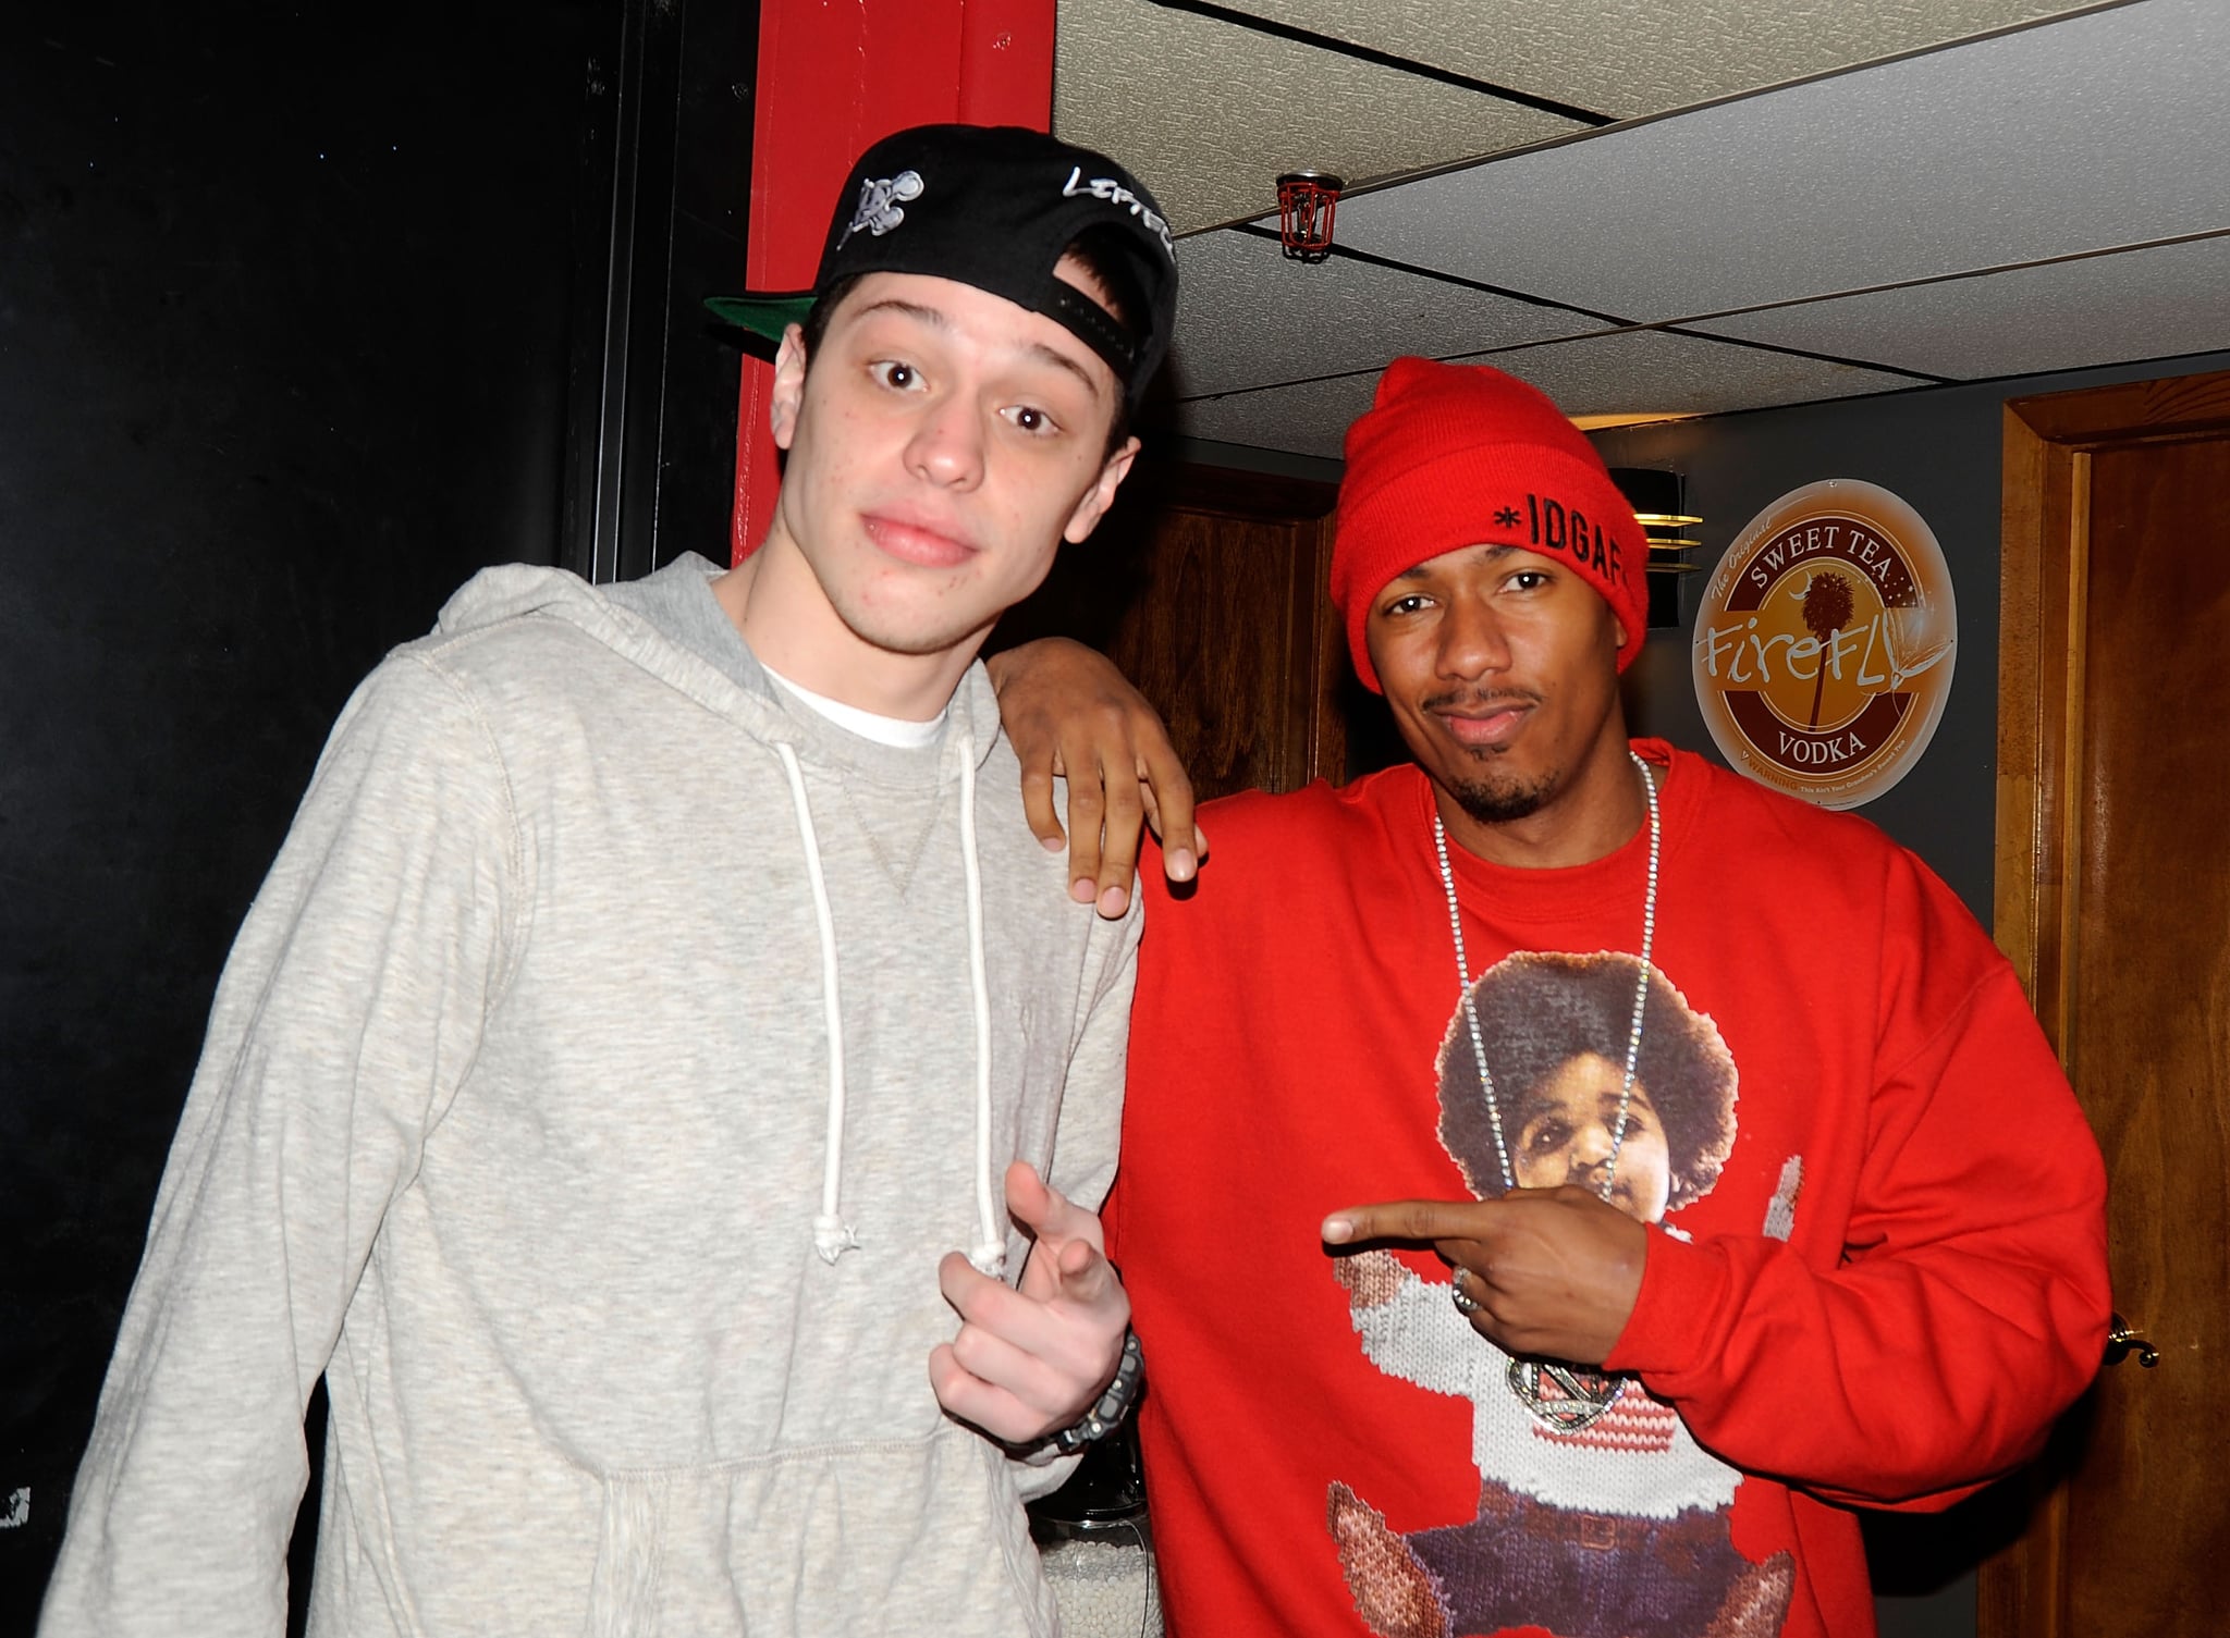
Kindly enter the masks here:
<path id="1" fill-rule="evenodd" d="M 1061 252 L 1093 227 L 1137 276 L 1137 334 L 1055 276 Z M 1041 312 L 1106 359 L 1137 408 L 1169 352 L 1177 254 L 1169 223 L 1122 165 L 1021 125 L 917 125 L 852 165 L 836 196 L 812 290 L 705 301 L 718 316 L 780 339 L 836 283 L 870 272 L 954 279 Z"/>

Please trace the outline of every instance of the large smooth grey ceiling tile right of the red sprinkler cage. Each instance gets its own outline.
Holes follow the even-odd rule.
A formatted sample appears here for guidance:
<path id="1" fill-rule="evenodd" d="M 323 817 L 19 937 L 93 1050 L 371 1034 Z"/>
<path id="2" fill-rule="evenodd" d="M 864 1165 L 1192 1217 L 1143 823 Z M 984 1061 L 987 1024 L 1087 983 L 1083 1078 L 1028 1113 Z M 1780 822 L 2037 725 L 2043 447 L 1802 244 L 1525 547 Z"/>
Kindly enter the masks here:
<path id="1" fill-rule="evenodd" d="M 2226 62 L 2230 4 L 2143 0 L 1367 194 L 1338 234 L 1664 321 L 2205 232 Z"/>

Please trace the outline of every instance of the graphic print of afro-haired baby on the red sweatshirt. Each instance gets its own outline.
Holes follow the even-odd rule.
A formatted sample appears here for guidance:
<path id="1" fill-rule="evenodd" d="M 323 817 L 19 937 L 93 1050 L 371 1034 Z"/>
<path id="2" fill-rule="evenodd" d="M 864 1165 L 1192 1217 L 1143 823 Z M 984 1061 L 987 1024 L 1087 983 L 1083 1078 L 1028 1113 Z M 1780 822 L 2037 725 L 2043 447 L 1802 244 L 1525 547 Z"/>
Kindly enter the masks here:
<path id="1" fill-rule="evenodd" d="M 1668 1223 L 1710 1192 L 1735 1145 L 1735 1061 L 1708 1014 L 1650 972 L 1626 1139 L 1610 1168 L 1632 1027 L 1635 956 L 1519 952 L 1470 989 L 1519 1188 L 1579 1183 Z M 1434 1061 L 1441 1143 L 1478 1199 L 1503 1192 L 1487 1094 L 1458 1003 Z M 1791 1159 L 1768 1232 L 1788 1235 Z M 1788 1553 L 1735 1551 L 1742 1473 L 1708 1455 L 1632 1377 L 1512 1359 L 1456 1313 L 1445 1281 L 1389 1252 L 1334 1261 L 1365 1357 L 1389 1377 L 1472 1402 L 1478 1511 L 1394 1529 L 1342 1482 L 1327 1527 L 1378 1638 L 1539 1627 L 1557 1638 L 1773 1638 L 1795 1587 Z"/>

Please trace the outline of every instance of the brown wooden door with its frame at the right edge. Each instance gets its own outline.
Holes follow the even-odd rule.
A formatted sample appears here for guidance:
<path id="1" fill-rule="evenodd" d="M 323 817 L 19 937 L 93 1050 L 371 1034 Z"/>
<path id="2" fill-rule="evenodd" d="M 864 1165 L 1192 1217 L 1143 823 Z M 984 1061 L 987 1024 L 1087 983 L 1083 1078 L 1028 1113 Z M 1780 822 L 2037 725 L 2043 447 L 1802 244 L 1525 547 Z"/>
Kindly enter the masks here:
<path id="1" fill-rule="evenodd" d="M 1982 1638 L 2199 1638 L 2230 1609 L 2230 372 L 2005 421 L 1998 943 L 2107 1159 L 2101 1371 Z"/>

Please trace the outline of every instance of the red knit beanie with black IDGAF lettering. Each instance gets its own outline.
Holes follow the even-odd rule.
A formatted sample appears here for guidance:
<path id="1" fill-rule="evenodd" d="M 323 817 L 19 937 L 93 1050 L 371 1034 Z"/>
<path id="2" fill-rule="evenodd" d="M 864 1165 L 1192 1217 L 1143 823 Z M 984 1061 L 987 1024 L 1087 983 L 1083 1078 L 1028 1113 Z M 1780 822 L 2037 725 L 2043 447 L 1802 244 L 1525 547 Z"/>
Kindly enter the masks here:
<path id="1" fill-rule="evenodd" d="M 1458 546 L 1568 562 L 1619 617 L 1619 671 L 1641 651 L 1648 537 L 1603 457 L 1543 392 L 1481 363 L 1394 359 L 1347 428 L 1331 606 L 1356 675 L 1383 693 L 1363 626 L 1403 571 Z"/>

